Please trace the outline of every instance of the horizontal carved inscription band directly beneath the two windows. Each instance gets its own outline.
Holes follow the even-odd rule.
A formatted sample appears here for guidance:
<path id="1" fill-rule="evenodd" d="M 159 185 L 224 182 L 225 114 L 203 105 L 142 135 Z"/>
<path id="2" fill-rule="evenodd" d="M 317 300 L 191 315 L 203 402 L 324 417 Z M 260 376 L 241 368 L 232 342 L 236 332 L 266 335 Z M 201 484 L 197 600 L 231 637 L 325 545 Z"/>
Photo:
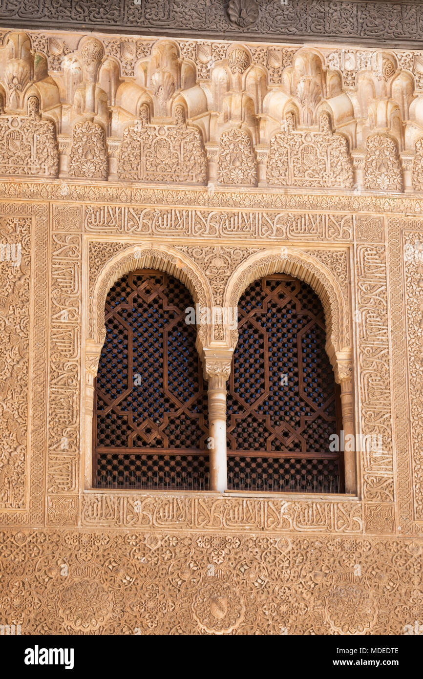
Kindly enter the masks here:
<path id="1" fill-rule="evenodd" d="M 259 498 L 185 496 L 110 496 L 82 498 L 83 526 L 125 526 L 168 530 L 283 530 L 294 532 L 362 533 L 360 502 L 318 502 Z"/>

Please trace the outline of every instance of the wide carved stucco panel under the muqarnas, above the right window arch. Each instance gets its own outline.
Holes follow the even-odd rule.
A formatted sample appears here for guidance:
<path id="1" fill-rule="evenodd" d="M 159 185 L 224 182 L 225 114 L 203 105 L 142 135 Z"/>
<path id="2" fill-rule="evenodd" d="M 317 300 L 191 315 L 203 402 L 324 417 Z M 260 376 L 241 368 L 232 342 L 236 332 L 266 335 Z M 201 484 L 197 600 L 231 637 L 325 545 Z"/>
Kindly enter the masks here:
<path id="1" fill-rule="evenodd" d="M 353 184 L 348 142 L 331 130 L 329 114 L 320 115 L 318 132 L 297 132 L 293 113 L 285 131 L 270 141 L 267 179 L 271 185 L 345 187 Z"/>

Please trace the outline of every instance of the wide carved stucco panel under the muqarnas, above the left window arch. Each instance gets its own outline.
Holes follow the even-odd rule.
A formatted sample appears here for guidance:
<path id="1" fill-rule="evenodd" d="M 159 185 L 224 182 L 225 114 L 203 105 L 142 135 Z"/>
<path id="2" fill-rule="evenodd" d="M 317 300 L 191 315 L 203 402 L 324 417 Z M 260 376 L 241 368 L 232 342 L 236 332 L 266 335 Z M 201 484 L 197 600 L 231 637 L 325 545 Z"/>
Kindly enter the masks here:
<path id="1" fill-rule="evenodd" d="M 151 125 L 149 109 L 124 131 L 119 154 L 119 179 L 204 184 L 206 157 L 199 130 L 188 127 L 183 107 L 175 110 L 176 124 Z"/>

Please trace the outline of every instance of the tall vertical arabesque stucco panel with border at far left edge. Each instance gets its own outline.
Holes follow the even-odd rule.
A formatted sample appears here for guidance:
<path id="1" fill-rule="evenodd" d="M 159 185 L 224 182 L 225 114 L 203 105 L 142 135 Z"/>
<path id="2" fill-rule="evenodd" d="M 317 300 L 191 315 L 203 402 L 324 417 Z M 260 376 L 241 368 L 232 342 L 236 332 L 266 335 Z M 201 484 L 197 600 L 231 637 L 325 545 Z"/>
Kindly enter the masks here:
<path id="1" fill-rule="evenodd" d="M 16 212 L 16 204 L 1 204 L 3 526 L 41 525 L 45 499 L 48 206 L 22 204 Z"/>

